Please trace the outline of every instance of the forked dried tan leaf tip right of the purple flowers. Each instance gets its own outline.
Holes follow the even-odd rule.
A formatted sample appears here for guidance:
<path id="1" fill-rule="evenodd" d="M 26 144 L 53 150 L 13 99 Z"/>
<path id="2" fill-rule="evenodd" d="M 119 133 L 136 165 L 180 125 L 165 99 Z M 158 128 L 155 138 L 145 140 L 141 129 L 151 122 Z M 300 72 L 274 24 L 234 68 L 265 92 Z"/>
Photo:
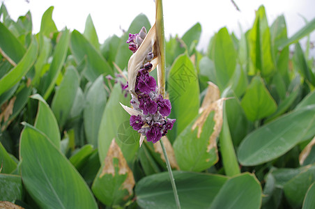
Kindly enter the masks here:
<path id="1" fill-rule="evenodd" d="M 220 91 L 215 84 L 208 82 L 208 90 L 199 112 L 201 115 L 197 118 L 194 125 L 192 125 L 192 130 L 198 127 L 197 137 L 201 136 L 203 125 L 206 122 L 210 112 L 214 111 L 213 121 L 215 125 L 213 127 L 213 133 L 209 137 L 209 144 L 207 147 L 207 152 L 210 152 L 212 148 L 217 151 L 217 137 L 219 136 L 223 123 L 223 103 L 226 98 L 220 98 Z"/>

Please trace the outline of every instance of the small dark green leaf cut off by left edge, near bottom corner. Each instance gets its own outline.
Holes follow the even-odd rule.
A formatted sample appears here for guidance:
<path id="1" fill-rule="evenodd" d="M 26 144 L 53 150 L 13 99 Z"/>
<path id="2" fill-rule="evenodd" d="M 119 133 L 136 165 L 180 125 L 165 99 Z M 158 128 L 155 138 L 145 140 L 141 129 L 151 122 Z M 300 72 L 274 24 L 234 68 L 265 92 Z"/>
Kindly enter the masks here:
<path id="1" fill-rule="evenodd" d="M 21 176 L 0 173 L 0 201 L 14 202 L 22 199 Z"/>

